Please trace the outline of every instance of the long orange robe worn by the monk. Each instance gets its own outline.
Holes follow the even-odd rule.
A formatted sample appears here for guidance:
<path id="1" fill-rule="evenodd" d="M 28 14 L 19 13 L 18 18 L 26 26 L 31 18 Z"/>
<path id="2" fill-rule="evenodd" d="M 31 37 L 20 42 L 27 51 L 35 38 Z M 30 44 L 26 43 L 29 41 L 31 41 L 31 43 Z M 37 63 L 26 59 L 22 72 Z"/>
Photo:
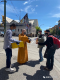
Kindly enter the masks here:
<path id="1" fill-rule="evenodd" d="M 19 34 L 19 40 L 24 42 L 24 47 L 20 47 L 18 49 L 18 58 L 17 62 L 23 64 L 28 61 L 28 51 L 27 51 L 27 43 L 30 43 L 28 37 L 23 34 Z"/>

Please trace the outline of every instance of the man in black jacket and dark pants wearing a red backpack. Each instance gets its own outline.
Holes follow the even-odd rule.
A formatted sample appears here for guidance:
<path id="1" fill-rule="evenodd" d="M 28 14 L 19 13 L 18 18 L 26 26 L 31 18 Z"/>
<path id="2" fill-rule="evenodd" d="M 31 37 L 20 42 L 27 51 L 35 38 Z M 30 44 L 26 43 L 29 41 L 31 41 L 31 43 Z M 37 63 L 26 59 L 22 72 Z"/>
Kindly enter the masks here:
<path id="1" fill-rule="evenodd" d="M 52 37 L 48 37 L 49 33 L 50 33 L 49 30 L 45 31 L 45 35 L 47 37 L 47 40 L 44 43 L 36 42 L 36 44 L 47 45 L 47 49 L 48 49 L 47 50 L 47 63 L 46 63 L 46 67 L 44 69 L 50 71 L 50 70 L 53 69 L 55 49 L 52 47 L 53 46 L 53 38 Z"/>

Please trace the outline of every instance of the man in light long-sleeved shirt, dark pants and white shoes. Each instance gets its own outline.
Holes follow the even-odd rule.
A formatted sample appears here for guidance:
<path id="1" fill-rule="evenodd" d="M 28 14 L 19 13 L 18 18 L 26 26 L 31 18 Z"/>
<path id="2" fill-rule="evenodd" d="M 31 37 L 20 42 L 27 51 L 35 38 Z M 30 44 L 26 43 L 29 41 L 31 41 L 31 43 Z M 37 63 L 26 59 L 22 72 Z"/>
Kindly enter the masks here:
<path id="1" fill-rule="evenodd" d="M 10 25 L 10 29 L 8 29 L 4 35 L 4 49 L 6 52 L 6 71 L 14 72 L 14 69 L 11 68 L 11 57 L 12 57 L 12 48 L 11 48 L 11 42 L 16 42 L 17 44 L 20 43 L 20 41 L 17 41 L 15 39 L 12 39 L 12 32 L 14 32 L 16 29 L 15 24 Z"/>

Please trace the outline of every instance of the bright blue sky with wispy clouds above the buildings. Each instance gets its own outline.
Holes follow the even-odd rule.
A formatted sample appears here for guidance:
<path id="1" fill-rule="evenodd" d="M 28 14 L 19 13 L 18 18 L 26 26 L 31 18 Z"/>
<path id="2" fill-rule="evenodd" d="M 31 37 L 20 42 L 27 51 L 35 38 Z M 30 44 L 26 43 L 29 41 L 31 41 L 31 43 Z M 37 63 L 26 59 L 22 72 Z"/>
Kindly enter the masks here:
<path id="1" fill-rule="evenodd" d="M 4 2 L 0 0 L 0 22 L 4 15 Z M 6 16 L 19 21 L 28 13 L 29 19 L 38 19 L 42 31 L 58 25 L 60 0 L 7 0 Z"/>

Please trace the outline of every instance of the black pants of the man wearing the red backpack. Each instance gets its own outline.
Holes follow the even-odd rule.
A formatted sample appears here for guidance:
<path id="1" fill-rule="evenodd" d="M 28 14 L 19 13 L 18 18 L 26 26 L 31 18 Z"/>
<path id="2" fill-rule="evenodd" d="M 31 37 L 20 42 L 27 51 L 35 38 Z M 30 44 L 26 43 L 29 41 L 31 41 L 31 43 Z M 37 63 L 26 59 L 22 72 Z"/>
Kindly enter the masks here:
<path id="1" fill-rule="evenodd" d="M 55 49 L 51 48 L 47 51 L 47 63 L 46 66 L 48 69 L 53 68 L 54 65 L 54 54 L 55 54 Z"/>

